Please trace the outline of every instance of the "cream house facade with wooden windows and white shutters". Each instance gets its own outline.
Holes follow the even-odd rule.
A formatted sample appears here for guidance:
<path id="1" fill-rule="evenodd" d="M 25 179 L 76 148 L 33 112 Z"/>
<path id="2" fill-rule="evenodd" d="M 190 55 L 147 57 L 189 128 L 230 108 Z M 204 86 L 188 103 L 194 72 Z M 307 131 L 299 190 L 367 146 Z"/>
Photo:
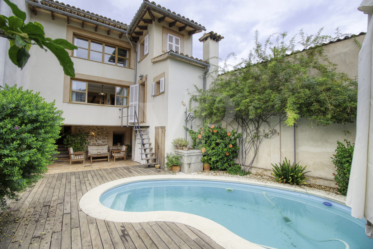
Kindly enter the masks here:
<path id="1" fill-rule="evenodd" d="M 206 60 L 218 56 L 223 37 L 204 33 L 204 60 L 199 60 L 190 56 L 192 36 L 206 28 L 154 2 L 143 1 L 130 24 L 53 0 L 12 2 L 26 12 L 25 22 L 40 22 L 47 37 L 78 47 L 68 50 L 75 78 L 64 75 L 54 55 L 37 46 L 20 71 L 7 58 L 9 42 L 1 39 L 0 84 L 17 84 L 40 92 L 47 102 L 55 100 L 65 118 L 61 133 L 87 132 L 90 144 L 109 144 L 109 149 L 132 141 L 132 159 L 144 163 L 134 129 L 138 118 L 147 152 L 156 158 L 151 162 L 163 166 L 165 153 L 175 148 L 172 140 L 186 136 L 187 89 L 209 84 L 211 62 Z M 12 15 L 6 4 L 1 6 L 2 15 Z"/>

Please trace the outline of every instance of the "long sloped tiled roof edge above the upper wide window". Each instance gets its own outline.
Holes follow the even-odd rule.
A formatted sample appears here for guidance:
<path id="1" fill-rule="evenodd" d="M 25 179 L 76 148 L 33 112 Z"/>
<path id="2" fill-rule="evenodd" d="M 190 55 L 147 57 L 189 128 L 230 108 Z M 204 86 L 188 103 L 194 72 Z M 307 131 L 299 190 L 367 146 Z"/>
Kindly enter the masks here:
<path id="1" fill-rule="evenodd" d="M 33 2 L 37 3 L 37 0 L 30 0 L 30 1 L 33 1 Z M 88 10 L 87 11 L 82 10 L 82 9 L 76 8 L 75 6 L 70 6 L 69 4 L 60 3 L 59 1 L 43 0 L 43 1 L 40 1 L 40 3 L 45 5 L 45 6 L 51 7 L 53 9 L 62 10 L 62 11 L 71 13 L 73 15 L 81 16 L 81 17 L 84 17 L 84 18 L 87 18 L 87 19 L 91 19 L 91 20 L 96 21 L 96 22 L 101 22 L 102 24 L 106 24 L 106 25 L 109 25 L 109 26 L 112 26 L 112 27 L 115 27 L 115 28 L 124 29 L 124 30 L 127 30 L 127 28 L 128 28 L 128 25 L 123 24 L 123 22 L 115 21 L 115 20 L 112 20 L 110 18 L 107 18 L 106 16 L 101 16 L 101 15 L 95 14 L 93 12 L 89 12 Z M 54 3 L 61 4 L 63 6 L 69 7 L 69 8 L 66 8 L 66 7 L 63 7 L 63 6 L 58 6 Z M 70 8 L 72 8 L 72 9 L 70 9 Z M 85 12 L 87 14 L 82 13 L 82 12 Z"/>

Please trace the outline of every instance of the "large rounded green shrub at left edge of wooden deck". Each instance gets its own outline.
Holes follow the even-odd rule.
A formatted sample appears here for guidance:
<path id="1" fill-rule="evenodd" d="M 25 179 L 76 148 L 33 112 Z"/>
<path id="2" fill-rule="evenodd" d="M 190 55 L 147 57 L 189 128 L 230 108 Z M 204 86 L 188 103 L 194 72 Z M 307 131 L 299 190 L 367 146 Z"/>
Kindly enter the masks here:
<path id="1" fill-rule="evenodd" d="M 8 87 L 0 91 L 0 208 L 5 198 L 18 200 L 55 159 L 62 111 L 39 93 Z"/>

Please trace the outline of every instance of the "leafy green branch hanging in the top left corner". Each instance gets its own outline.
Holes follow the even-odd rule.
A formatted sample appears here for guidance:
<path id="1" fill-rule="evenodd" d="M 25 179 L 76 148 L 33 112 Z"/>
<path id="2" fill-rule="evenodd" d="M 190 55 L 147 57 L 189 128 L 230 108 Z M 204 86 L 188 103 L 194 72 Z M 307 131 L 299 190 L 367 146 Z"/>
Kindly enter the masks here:
<path id="1" fill-rule="evenodd" d="M 19 10 L 18 7 L 9 0 L 4 0 L 12 9 L 14 16 L 0 15 L 0 37 L 10 40 L 8 50 L 9 59 L 19 68 L 23 68 L 29 57 L 31 45 L 38 45 L 41 49 L 49 49 L 56 56 L 63 72 L 75 77 L 73 62 L 69 53 L 65 49 L 78 49 L 73 44 L 64 39 L 54 39 L 45 37 L 43 25 L 38 22 L 29 22 L 25 24 L 26 13 Z"/>

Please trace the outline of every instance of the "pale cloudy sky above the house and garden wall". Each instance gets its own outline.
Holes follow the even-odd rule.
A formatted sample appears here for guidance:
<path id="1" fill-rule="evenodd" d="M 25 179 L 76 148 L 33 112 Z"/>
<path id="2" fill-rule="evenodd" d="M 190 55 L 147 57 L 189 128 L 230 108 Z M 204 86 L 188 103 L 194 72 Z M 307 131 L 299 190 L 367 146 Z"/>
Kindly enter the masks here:
<path id="1" fill-rule="evenodd" d="M 142 0 L 62 0 L 65 4 L 88 10 L 128 24 Z M 367 31 L 367 15 L 357 10 L 361 0 L 157 0 L 207 31 L 225 37 L 219 43 L 219 57 L 233 52 L 238 59 L 246 58 L 253 48 L 254 32 L 261 42 L 275 32 L 288 32 L 289 38 L 303 29 L 314 34 L 324 27 L 323 34 L 334 35 L 336 27 L 342 33 Z M 193 35 L 193 55 L 202 59 L 203 34 Z"/>

